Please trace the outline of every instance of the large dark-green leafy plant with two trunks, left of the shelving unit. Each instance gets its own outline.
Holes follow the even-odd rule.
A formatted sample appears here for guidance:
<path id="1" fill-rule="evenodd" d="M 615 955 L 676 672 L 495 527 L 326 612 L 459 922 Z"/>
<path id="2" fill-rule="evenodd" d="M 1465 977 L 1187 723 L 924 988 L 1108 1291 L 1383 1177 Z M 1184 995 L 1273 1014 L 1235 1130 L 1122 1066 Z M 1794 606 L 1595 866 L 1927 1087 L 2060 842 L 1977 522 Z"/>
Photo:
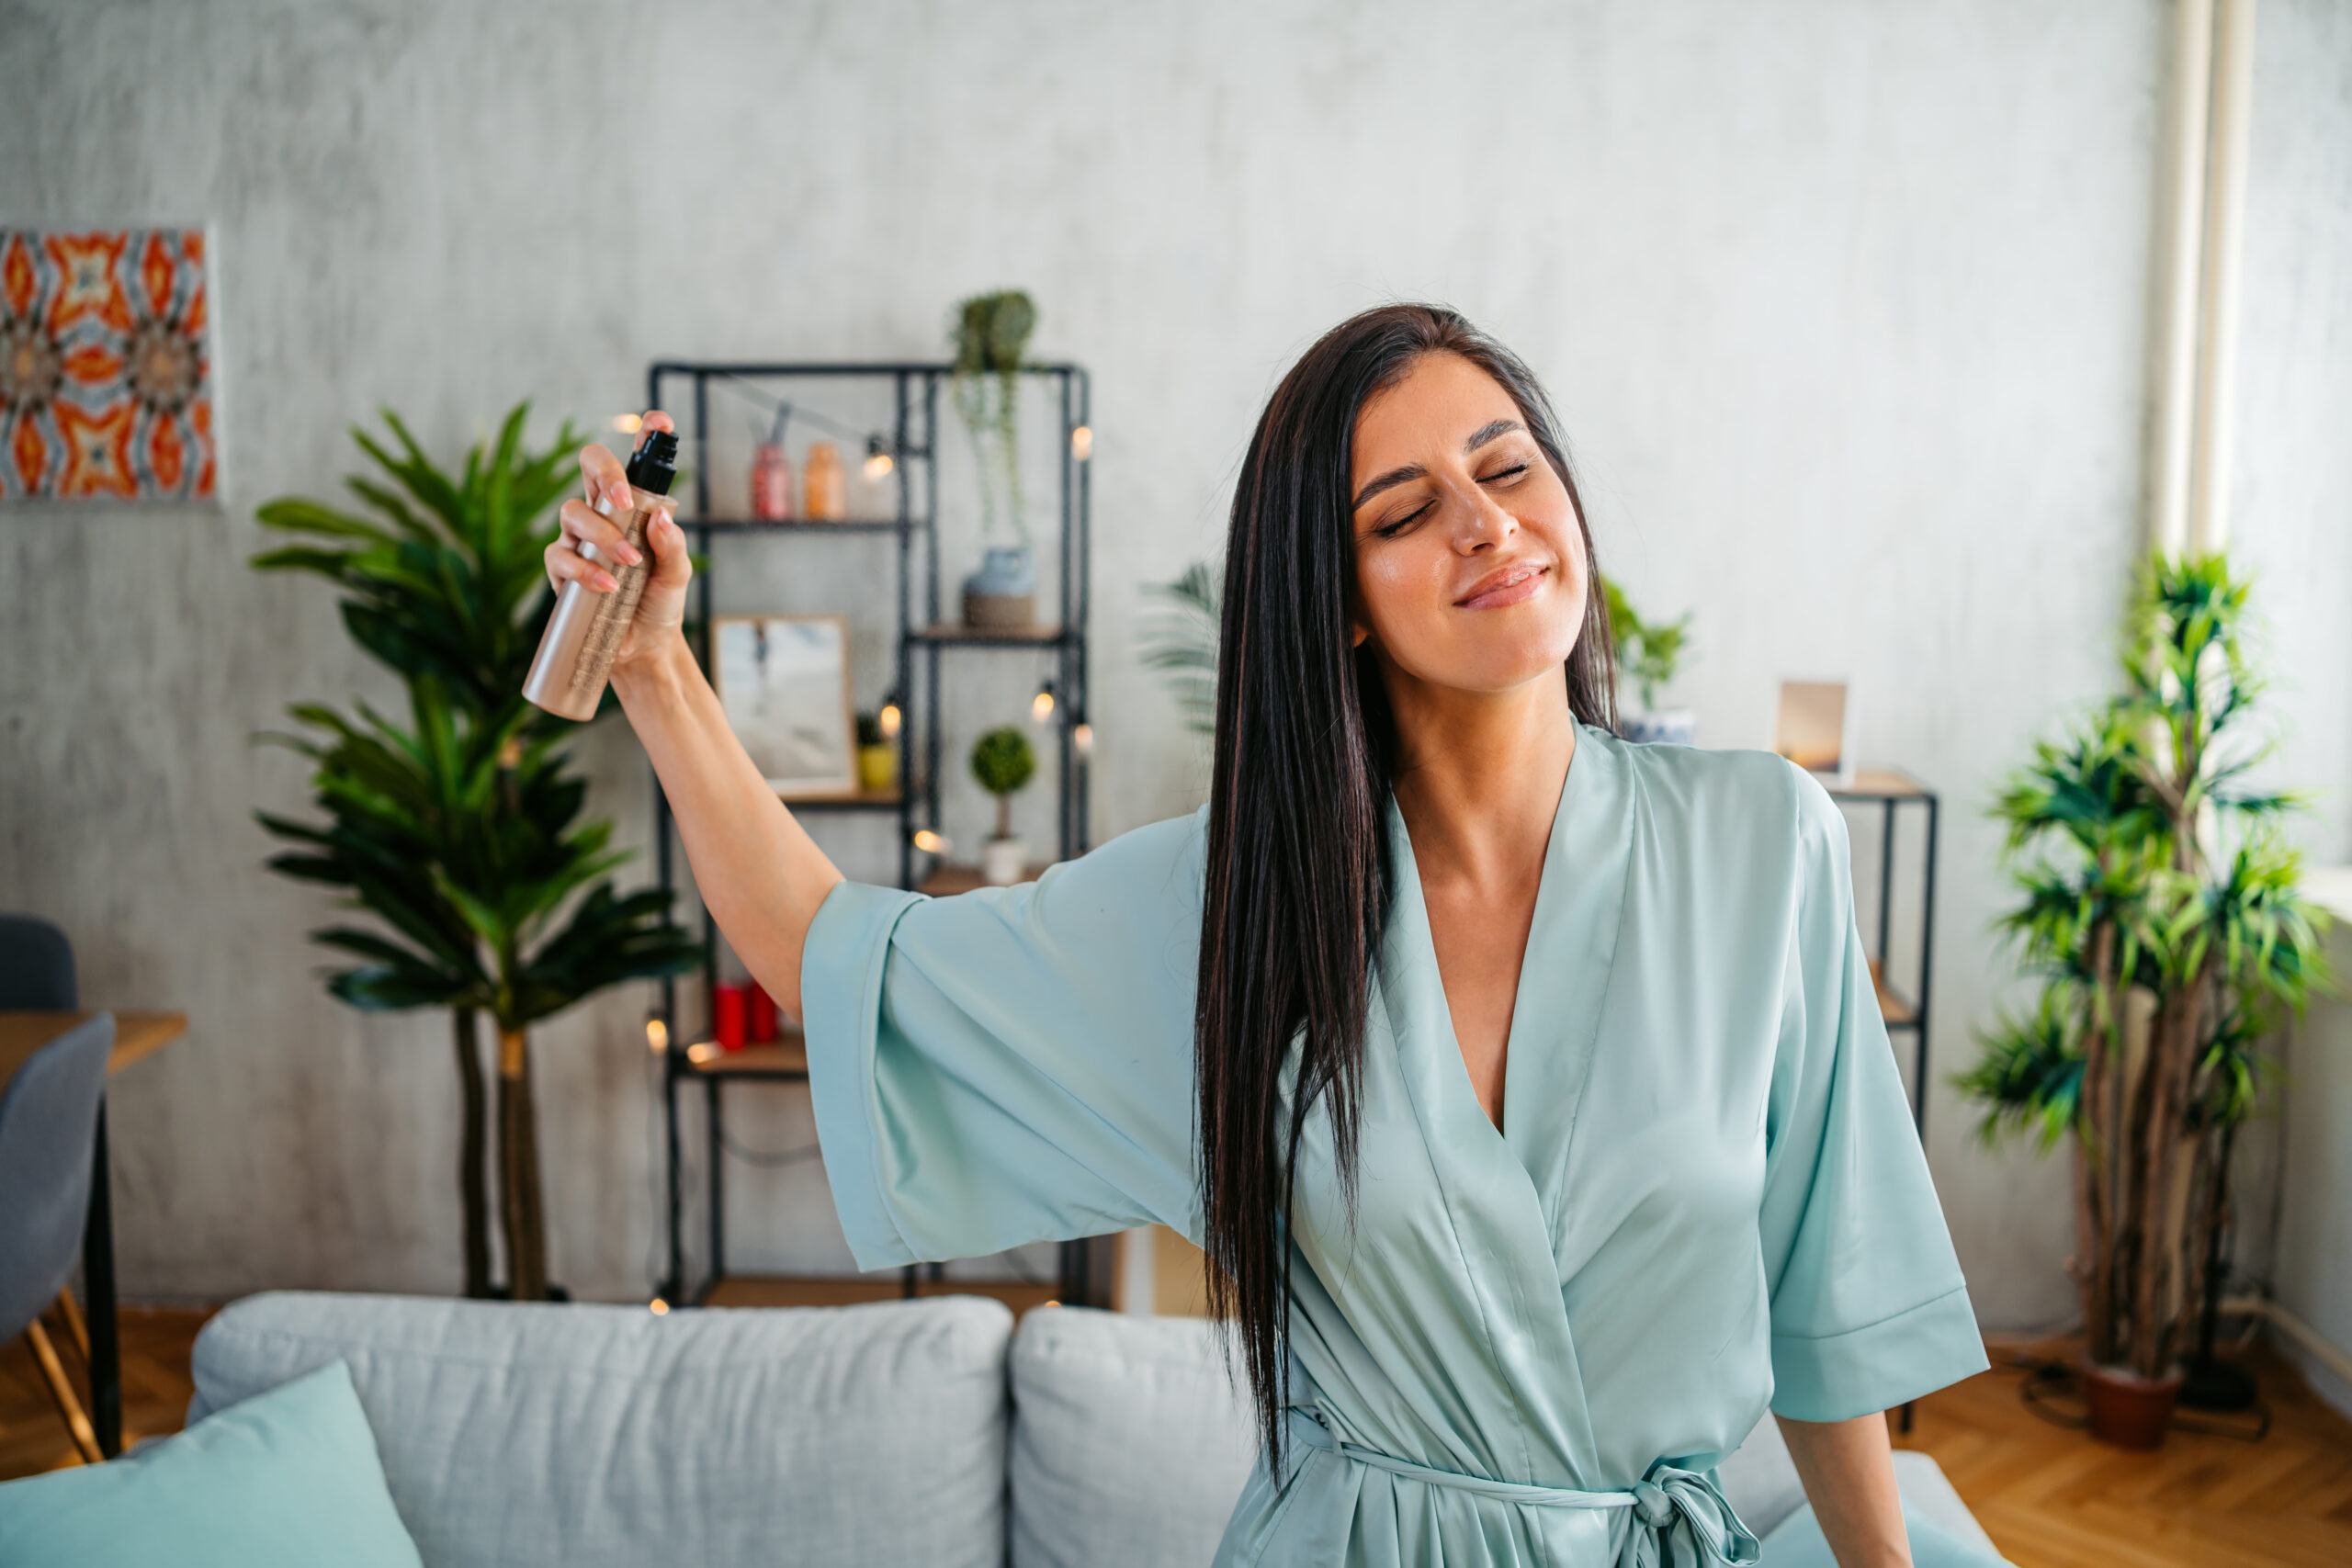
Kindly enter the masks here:
<path id="1" fill-rule="evenodd" d="M 564 425 L 529 451 L 517 404 L 463 473 L 437 468 L 390 411 L 390 442 L 353 440 L 374 473 L 348 489 L 365 512 L 308 498 L 261 508 L 289 543 L 263 571 L 334 583 L 343 625 L 407 686 L 405 719 L 353 703 L 296 703 L 301 733 L 273 736 L 310 759 L 325 823 L 256 813 L 289 844 L 270 867 L 346 893 L 379 924 L 334 924 L 313 940 L 353 959 L 327 978 L 367 1011 L 452 1011 L 463 1138 L 466 1291 L 489 1295 L 487 1093 L 477 1016 L 499 1032 L 499 1192 L 508 1293 L 548 1291 L 529 1025 L 595 994 L 680 973 L 701 959 L 659 891 L 616 893 L 612 823 L 581 820 L 586 780 L 567 771 L 564 726 L 520 696 L 553 607 L 541 552 L 572 487 L 581 437 Z"/>

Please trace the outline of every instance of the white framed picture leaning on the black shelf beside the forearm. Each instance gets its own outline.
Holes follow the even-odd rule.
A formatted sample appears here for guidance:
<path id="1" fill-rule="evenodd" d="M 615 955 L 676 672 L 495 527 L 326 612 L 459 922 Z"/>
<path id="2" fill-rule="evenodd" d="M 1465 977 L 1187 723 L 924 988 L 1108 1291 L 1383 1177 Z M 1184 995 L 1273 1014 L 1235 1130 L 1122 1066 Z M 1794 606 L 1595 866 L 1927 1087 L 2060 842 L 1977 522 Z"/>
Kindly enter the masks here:
<path id="1" fill-rule="evenodd" d="M 710 665 L 727 722 L 779 797 L 858 792 L 847 618 L 713 616 Z"/>

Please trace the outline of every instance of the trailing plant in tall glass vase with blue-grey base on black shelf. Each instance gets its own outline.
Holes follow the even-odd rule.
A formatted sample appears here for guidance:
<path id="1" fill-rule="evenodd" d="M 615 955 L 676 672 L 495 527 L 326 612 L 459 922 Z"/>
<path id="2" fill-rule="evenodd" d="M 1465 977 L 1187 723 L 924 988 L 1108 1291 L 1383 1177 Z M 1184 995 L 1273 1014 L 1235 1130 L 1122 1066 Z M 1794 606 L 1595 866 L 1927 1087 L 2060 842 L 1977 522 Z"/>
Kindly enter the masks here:
<path id="1" fill-rule="evenodd" d="M 1035 329 L 1037 306 L 1021 289 L 974 294 L 955 308 L 950 329 L 948 381 L 981 482 L 981 569 L 964 578 L 964 625 L 974 630 L 1028 630 L 1037 616 L 1037 564 L 1021 505 L 1021 355 Z"/>

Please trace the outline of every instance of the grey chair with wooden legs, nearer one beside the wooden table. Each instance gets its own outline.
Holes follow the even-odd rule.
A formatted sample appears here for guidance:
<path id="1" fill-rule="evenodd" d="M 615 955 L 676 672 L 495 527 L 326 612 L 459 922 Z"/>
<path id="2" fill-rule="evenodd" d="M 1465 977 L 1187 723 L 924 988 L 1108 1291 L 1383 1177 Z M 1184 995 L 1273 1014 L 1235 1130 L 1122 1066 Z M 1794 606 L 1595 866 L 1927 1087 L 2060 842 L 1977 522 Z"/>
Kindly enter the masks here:
<path id="1" fill-rule="evenodd" d="M 113 1048 L 115 1016 L 85 1018 L 26 1058 L 0 1093 L 0 1340 L 21 1333 L 33 1345 L 56 1413 L 92 1465 L 106 1460 L 96 1427 L 40 1314 L 59 1305 L 87 1366 L 89 1328 L 66 1281 L 82 1255 L 99 1095 Z"/>

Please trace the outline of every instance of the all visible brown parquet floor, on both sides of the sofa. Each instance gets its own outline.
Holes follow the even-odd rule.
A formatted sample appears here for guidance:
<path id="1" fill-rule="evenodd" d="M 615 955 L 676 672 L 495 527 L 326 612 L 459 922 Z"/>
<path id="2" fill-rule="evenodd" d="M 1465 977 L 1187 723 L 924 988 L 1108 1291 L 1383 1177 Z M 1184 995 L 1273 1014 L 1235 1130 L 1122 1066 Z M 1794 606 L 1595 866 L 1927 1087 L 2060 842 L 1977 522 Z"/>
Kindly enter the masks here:
<path id="1" fill-rule="evenodd" d="M 176 1432 L 195 1392 L 188 1349 L 207 1312 L 122 1314 L 129 1436 Z M 64 1342 L 61 1326 L 52 1335 Z M 1994 1347 L 1994 1371 L 1919 1401 L 1898 1448 L 1936 1455 L 2018 1568 L 2347 1568 L 2352 1422 L 2267 1347 L 2246 1354 L 2270 1434 L 2239 1441 L 2178 1425 L 2157 1453 L 2056 1427 L 2018 1396 L 2027 1368 L 2070 1345 Z M 66 1352 L 80 1375 L 80 1361 Z M 2056 1408 L 2065 1408 L 2053 1399 Z M 2246 1425 L 2244 1418 L 2197 1418 Z M 0 1479 L 73 1462 L 24 1340 L 0 1347 Z"/>

